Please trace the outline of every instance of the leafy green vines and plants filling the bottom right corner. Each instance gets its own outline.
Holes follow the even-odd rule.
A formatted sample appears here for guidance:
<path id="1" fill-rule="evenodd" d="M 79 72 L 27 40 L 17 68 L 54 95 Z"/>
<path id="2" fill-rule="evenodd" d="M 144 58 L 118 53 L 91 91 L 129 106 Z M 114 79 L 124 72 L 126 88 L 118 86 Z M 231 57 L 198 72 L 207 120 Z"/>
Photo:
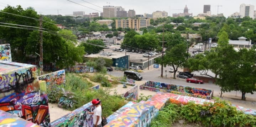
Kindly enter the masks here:
<path id="1" fill-rule="evenodd" d="M 169 127 L 181 119 L 199 123 L 205 127 L 256 127 L 255 116 L 237 111 L 234 106 L 230 105 L 229 102 L 219 99 L 216 99 L 215 103 L 203 105 L 194 102 L 185 105 L 172 102 L 159 112 L 157 118 L 151 122 L 151 127 Z"/>

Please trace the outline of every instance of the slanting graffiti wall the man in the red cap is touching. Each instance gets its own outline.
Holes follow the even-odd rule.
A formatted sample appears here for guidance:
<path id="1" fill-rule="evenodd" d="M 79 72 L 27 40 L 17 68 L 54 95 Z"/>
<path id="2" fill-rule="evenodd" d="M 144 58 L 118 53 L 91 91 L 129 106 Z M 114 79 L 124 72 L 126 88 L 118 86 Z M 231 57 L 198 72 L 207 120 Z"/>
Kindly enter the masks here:
<path id="1" fill-rule="evenodd" d="M 50 123 L 51 127 L 93 127 L 91 102 Z"/>

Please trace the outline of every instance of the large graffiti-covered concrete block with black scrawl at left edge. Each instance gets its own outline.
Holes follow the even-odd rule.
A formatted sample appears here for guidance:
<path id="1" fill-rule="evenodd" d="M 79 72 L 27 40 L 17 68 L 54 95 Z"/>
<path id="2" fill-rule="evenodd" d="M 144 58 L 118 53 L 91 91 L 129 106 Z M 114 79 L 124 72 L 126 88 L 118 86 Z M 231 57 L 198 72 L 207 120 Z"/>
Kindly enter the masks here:
<path id="1" fill-rule="evenodd" d="M 40 91 L 35 65 L 0 61 L 0 110 L 49 126 L 48 97 Z"/>

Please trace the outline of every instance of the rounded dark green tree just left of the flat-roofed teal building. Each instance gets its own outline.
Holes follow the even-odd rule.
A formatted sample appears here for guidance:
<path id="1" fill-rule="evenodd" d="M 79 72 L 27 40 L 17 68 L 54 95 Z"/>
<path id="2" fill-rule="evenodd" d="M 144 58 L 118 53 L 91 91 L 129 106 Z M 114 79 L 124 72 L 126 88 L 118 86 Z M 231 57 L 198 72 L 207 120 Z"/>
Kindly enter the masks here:
<path id="1" fill-rule="evenodd" d="M 100 46 L 105 46 L 105 44 L 102 40 L 88 40 L 86 43 L 82 42 L 79 46 L 83 46 L 84 51 L 88 54 L 96 54 L 103 51 L 104 48 Z"/>

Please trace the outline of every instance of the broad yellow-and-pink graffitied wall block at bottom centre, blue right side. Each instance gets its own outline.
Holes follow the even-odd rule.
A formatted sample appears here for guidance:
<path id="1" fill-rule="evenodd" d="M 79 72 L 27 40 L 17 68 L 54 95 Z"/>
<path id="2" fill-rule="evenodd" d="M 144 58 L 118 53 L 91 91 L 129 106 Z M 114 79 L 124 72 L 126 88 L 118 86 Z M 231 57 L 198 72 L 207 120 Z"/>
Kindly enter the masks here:
<path id="1" fill-rule="evenodd" d="M 154 117 L 154 106 L 137 103 L 125 110 L 117 119 L 110 121 L 104 127 L 147 127 Z"/>

